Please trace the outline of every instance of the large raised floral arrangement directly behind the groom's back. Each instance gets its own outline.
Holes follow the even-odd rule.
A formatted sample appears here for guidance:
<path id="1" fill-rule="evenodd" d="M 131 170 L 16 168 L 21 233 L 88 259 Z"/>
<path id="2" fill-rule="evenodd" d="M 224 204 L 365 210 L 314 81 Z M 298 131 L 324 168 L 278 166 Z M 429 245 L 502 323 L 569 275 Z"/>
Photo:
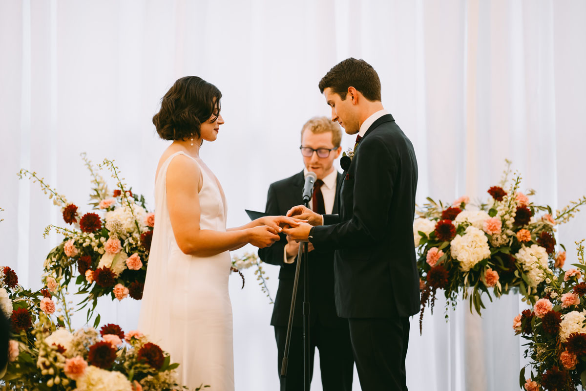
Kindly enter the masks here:
<path id="1" fill-rule="evenodd" d="M 556 226 L 579 212 L 586 196 L 554 215 L 550 206 L 530 200 L 534 191 L 519 191 L 518 173 L 507 186 L 509 174 L 506 161 L 500 186 L 488 189 L 486 203 L 473 205 L 464 196 L 444 205 L 428 198 L 417 210 L 413 235 L 419 257 L 420 332 L 425 307 L 433 311 L 438 289 L 445 290 L 447 303 L 454 307 L 462 292 L 470 311 L 480 314 L 485 308 L 481 295 L 492 301 L 490 290 L 500 297 L 515 288 L 534 304 L 545 286 L 544 271 L 563 266 L 565 251 L 557 249 Z"/>

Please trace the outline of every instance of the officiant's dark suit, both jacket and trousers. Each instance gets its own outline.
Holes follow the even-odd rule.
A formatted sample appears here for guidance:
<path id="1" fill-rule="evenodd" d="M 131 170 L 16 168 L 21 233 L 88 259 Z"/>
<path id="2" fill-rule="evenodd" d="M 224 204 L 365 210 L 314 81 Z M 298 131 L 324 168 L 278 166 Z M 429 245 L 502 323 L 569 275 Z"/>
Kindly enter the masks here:
<path id="1" fill-rule="evenodd" d="M 329 121 L 329 120 L 328 120 Z M 336 172 L 335 183 L 342 182 L 343 175 Z M 304 171 L 270 185 L 267 195 L 266 212 L 269 215 L 285 215 L 292 206 L 302 203 L 302 190 L 305 178 Z M 335 186 L 335 185 L 334 185 Z M 326 197 L 328 195 L 325 195 Z M 338 197 L 331 192 L 333 212 L 338 210 Z M 331 201 L 331 200 L 330 200 Z M 331 205 L 331 204 L 330 204 Z M 270 247 L 258 250 L 258 255 L 265 263 L 281 267 L 279 287 L 272 311 L 271 325 L 275 328 L 278 360 L 277 370 L 281 371 L 281 362 L 287 335 L 287 322 L 291 309 L 291 298 L 295 267 L 293 263 L 285 263 L 285 245 L 287 239 L 281 234 L 281 240 Z M 336 315 L 334 303 L 333 251 L 310 251 L 309 262 L 302 263 L 301 276 L 306 265 L 309 265 L 309 301 L 311 304 L 310 341 L 311 341 L 311 374 L 313 375 L 314 351 L 319 349 L 319 362 L 324 391 L 342 391 L 352 389 L 354 359 L 350 334 L 346 319 Z M 281 390 L 303 390 L 303 278 L 299 278 L 297 301 L 295 302 L 294 321 L 289 348 L 287 376 L 281 378 Z"/>

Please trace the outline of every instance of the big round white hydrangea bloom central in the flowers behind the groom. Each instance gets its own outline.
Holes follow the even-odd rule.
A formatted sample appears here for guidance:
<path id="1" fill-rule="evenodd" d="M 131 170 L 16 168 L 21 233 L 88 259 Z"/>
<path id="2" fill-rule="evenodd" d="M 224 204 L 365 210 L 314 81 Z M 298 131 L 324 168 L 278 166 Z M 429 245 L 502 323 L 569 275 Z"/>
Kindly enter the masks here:
<path id="1" fill-rule="evenodd" d="M 473 226 L 466 228 L 464 236 L 456 235 L 450 245 L 452 257 L 460 262 L 462 271 L 469 271 L 475 264 L 490 257 L 488 237 Z"/>

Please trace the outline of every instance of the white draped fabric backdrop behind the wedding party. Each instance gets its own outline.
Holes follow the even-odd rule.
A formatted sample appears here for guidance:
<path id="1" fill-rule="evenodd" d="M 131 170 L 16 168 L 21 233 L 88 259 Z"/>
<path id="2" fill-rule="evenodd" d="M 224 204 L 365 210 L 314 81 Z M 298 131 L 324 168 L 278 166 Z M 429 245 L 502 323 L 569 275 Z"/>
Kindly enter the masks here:
<path id="1" fill-rule="evenodd" d="M 420 201 L 484 197 L 509 158 L 523 188 L 561 208 L 586 193 L 585 16 L 581 0 L 2 0 L 2 264 L 38 287 L 59 240 L 42 237 L 62 222 L 59 210 L 37 184 L 18 180 L 20 168 L 87 210 L 90 177 L 79 153 L 96 163 L 113 158 L 153 205 L 166 142 L 151 118 L 188 74 L 222 90 L 226 124 L 202 157 L 226 191 L 229 226 L 246 222 L 243 209 L 262 210 L 272 181 L 301 170 L 300 127 L 329 114 L 318 81 L 349 56 L 374 66 L 384 106 L 413 141 Z M 343 148 L 352 143 L 344 138 Z M 568 263 L 582 237 L 585 215 L 558 231 Z M 278 270 L 265 270 L 274 295 Z M 245 274 L 244 290 L 239 277 L 230 283 L 236 389 L 278 389 L 272 307 Z M 511 326 L 523 303 L 510 295 L 487 307 L 479 318 L 439 300 L 422 336 L 413 318 L 411 390 L 518 389 L 524 349 Z M 98 310 L 103 322 L 137 325 L 139 302 L 105 298 Z M 76 315 L 76 325 L 84 320 Z M 321 389 L 319 370 L 313 386 Z"/>

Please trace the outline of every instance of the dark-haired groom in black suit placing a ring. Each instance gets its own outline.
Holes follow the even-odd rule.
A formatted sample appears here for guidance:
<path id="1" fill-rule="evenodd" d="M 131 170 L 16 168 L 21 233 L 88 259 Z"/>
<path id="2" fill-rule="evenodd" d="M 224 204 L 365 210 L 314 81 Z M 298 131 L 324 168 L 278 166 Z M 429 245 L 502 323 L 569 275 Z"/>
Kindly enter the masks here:
<path id="1" fill-rule="evenodd" d="M 352 159 L 340 161 L 340 213 L 318 215 L 295 206 L 287 215 L 309 224 L 284 232 L 316 250 L 335 250 L 336 310 L 348 319 L 362 390 L 407 390 L 408 317 L 420 309 L 413 145 L 384 110 L 379 76 L 364 60 L 343 60 L 319 90 L 332 121 L 358 134 Z"/>

